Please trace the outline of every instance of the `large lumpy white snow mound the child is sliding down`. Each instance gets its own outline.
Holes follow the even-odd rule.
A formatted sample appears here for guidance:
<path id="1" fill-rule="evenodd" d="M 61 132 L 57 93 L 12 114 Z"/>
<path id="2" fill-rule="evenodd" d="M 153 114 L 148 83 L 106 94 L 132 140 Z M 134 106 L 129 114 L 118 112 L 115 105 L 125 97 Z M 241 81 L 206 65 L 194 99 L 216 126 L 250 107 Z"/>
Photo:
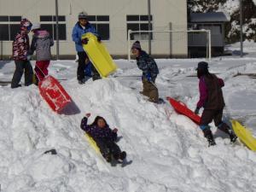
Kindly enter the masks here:
<path id="1" fill-rule="evenodd" d="M 177 73 L 183 73 L 178 71 Z M 164 83 L 164 79 L 161 79 Z M 201 131 L 118 79 L 62 81 L 73 106 L 51 111 L 34 85 L 0 88 L 0 181 L 7 192 L 253 191 L 256 155 L 223 136 L 207 148 Z M 75 106 L 75 107 L 74 107 Z M 111 167 L 86 142 L 80 121 L 102 115 L 119 129 L 131 165 Z M 218 134 L 217 134 L 218 135 Z M 57 154 L 44 154 L 55 148 Z"/>

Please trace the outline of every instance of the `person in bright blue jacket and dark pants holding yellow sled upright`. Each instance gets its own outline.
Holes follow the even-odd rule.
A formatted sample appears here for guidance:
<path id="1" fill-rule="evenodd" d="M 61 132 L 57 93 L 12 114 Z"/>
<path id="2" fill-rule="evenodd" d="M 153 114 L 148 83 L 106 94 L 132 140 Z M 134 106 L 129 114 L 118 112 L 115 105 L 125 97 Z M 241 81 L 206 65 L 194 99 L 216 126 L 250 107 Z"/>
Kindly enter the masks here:
<path id="1" fill-rule="evenodd" d="M 86 32 L 91 32 L 96 35 L 98 42 L 101 42 L 102 38 L 97 34 L 96 29 L 94 26 L 90 25 L 90 22 L 88 21 L 88 15 L 85 12 L 79 13 L 79 21 L 76 23 L 76 25 L 73 27 L 72 32 L 72 38 L 73 42 L 76 45 L 76 50 L 79 55 L 79 66 L 77 71 L 77 78 L 79 80 L 79 84 L 84 84 L 85 79 L 85 61 L 88 59 L 88 55 L 85 53 L 83 44 L 88 44 L 88 38 L 84 38 L 82 40 L 82 35 Z M 90 62 L 89 65 L 92 65 Z M 96 68 L 92 65 L 91 66 L 92 71 L 92 79 L 101 79 L 100 74 L 96 71 Z"/>

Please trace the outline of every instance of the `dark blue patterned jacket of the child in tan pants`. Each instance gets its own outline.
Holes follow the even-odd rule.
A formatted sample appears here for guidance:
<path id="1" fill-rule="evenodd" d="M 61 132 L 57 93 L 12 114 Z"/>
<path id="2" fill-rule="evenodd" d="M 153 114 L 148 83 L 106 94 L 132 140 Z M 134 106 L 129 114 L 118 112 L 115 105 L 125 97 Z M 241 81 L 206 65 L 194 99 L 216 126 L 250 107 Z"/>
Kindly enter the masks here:
<path id="1" fill-rule="evenodd" d="M 147 75 L 150 75 L 153 80 L 156 79 L 159 70 L 152 57 L 150 57 L 145 51 L 141 50 L 141 53 L 136 60 L 137 67 L 143 71 L 143 77 L 146 78 Z"/>

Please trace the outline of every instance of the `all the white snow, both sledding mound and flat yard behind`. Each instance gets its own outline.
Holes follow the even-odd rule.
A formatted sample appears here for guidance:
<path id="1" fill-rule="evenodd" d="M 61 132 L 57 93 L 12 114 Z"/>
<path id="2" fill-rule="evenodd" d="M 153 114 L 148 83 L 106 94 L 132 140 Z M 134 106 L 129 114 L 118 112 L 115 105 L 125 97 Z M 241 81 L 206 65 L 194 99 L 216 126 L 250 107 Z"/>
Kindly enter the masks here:
<path id="1" fill-rule="evenodd" d="M 242 59 L 214 58 L 210 71 L 224 79 L 224 113 L 240 119 L 256 136 L 256 79 L 236 76 L 256 73 L 255 52 Z M 160 96 L 178 97 L 194 109 L 199 97 L 194 77 L 198 61 L 157 60 Z M 0 63 L 0 79 L 11 79 L 14 63 Z M 168 104 L 155 106 L 138 94 L 141 72 L 135 62 L 116 63 L 119 70 L 112 78 L 80 85 L 75 78 L 77 63 L 52 61 L 49 73 L 61 79 L 75 103 L 62 114 L 51 111 L 35 85 L 0 87 L 2 191 L 256 191 L 254 152 L 240 143 L 230 145 L 213 125 L 217 146 L 207 148 L 193 122 Z M 111 127 L 119 128 L 119 146 L 131 165 L 111 167 L 90 148 L 79 128 L 87 112 L 92 113 L 90 122 L 102 115 Z M 44 154 L 51 148 L 56 155 Z"/>

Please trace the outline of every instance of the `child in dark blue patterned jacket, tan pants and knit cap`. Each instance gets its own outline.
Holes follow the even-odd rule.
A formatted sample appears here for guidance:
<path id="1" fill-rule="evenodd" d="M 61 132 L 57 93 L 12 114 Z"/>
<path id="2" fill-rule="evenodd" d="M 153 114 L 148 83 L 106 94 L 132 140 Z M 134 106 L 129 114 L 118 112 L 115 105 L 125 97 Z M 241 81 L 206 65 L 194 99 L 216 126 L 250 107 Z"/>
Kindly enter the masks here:
<path id="1" fill-rule="evenodd" d="M 157 74 L 159 73 L 156 62 L 142 49 L 139 41 L 132 44 L 131 52 L 136 56 L 137 67 L 143 71 L 143 91 L 140 93 L 142 93 L 143 96 L 148 96 L 149 102 L 158 103 L 158 89 L 154 84 Z"/>

